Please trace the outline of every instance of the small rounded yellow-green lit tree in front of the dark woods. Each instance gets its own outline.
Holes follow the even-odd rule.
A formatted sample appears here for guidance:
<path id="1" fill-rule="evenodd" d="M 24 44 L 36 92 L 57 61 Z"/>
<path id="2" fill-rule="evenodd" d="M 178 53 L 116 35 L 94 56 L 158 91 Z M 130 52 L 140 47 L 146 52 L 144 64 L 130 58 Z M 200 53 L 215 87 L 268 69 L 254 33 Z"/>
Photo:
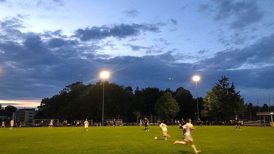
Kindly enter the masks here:
<path id="1" fill-rule="evenodd" d="M 165 93 L 155 104 L 155 111 L 162 119 L 171 119 L 176 117 L 179 112 L 179 106 L 176 100 L 172 98 L 171 93 Z"/>

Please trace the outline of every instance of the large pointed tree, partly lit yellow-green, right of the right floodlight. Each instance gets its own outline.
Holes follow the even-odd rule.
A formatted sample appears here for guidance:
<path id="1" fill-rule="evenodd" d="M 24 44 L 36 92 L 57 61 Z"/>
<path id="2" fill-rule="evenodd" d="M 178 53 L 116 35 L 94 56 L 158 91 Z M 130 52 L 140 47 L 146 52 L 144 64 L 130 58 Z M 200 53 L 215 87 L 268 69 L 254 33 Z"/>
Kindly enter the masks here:
<path id="1" fill-rule="evenodd" d="M 244 107 L 244 101 L 240 92 L 235 91 L 234 82 L 229 87 L 229 79 L 225 76 L 218 81 L 219 83 L 215 83 L 211 91 L 206 92 L 202 116 L 227 121 L 228 118 L 233 119 L 235 108 Z"/>

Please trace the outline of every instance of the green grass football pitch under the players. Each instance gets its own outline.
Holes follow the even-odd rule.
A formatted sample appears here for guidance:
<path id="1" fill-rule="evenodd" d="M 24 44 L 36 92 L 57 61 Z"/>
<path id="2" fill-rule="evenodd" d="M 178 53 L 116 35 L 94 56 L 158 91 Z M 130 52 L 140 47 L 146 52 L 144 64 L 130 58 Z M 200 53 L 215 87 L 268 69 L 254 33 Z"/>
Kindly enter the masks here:
<path id="1" fill-rule="evenodd" d="M 192 132 L 201 153 L 274 153 L 274 127 L 194 126 Z M 89 127 L 14 127 L 0 129 L 0 151 L 3 153 L 194 153 L 183 141 L 179 126 L 168 126 L 168 141 L 159 126 Z M 154 137 L 158 137 L 157 140 Z M 11 151 L 12 150 L 12 151 Z"/>

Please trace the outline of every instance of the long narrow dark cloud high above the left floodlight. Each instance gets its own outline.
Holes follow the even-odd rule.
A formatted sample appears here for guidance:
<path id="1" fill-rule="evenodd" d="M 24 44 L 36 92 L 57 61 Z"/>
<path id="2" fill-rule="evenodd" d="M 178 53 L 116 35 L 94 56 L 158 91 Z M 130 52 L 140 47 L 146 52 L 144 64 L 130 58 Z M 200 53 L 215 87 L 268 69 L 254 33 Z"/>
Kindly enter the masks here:
<path id="1" fill-rule="evenodd" d="M 86 27 L 85 29 L 78 29 L 75 31 L 73 37 L 79 38 L 82 41 L 87 40 L 101 40 L 107 37 L 126 38 L 132 36 L 138 36 L 142 32 L 154 32 L 159 33 L 160 26 L 163 23 L 158 24 L 120 24 L 112 26 L 101 26 L 101 27 Z"/>

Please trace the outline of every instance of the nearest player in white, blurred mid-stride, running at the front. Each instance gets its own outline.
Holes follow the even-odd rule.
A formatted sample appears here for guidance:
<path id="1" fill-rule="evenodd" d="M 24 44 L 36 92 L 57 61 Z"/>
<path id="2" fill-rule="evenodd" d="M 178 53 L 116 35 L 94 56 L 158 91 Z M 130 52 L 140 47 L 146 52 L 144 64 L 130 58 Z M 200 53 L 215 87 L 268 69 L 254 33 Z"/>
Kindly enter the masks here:
<path id="1" fill-rule="evenodd" d="M 185 141 L 175 141 L 174 143 L 173 143 L 173 145 L 175 145 L 175 144 L 183 144 L 183 145 L 187 145 L 188 144 L 188 142 L 190 142 L 190 144 L 191 144 L 191 147 L 193 148 L 193 150 L 194 150 L 194 152 L 195 153 L 200 153 L 201 151 L 199 150 L 199 151 L 197 151 L 197 149 L 196 149 L 196 147 L 195 147 L 195 145 L 194 145 L 194 141 L 193 141 L 193 138 L 192 138 L 192 134 L 191 134 L 191 131 L 192 130 L 195 130 L 195 128 L 193 127 L 193 125 L 190 123 L 190 120 L 189 119 L 187 119 L 186 120 L 186 124 L 183 126 L 184 127 L 184 129 L 186 129 L 186 135 L 185 135 Z"/>

